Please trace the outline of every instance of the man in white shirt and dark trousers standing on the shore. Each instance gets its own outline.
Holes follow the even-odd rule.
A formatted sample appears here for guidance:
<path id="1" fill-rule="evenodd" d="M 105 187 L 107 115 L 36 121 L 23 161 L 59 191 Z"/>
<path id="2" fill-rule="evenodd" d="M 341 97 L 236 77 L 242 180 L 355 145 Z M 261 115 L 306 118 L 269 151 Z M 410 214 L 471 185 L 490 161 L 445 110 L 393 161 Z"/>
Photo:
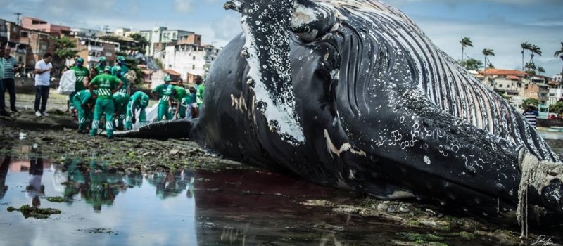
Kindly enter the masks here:
<path id="1" fill-rule="evenodd" d="M 37 117 L 49 116 L 46 112 L 47 99 L 49 99 L 49 85 L 51 84 L 51 60 L 53 55 L 46 53 L 43 60 L 35 64 L 35 115 Z M 41 108 L 39 108 L 41 101 Z"/>

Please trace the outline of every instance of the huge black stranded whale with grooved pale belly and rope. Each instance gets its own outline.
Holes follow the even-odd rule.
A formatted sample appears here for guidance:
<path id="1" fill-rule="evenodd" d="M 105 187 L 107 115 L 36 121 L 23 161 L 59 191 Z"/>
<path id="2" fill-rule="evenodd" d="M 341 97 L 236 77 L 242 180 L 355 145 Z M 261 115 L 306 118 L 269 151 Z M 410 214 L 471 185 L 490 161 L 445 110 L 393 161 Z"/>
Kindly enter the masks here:
<path id="1" fill-rule="evenodd" d="M 381 199 L 517 215 L 523 225 L 527 216 L 562 218 L 559 157 L 396 8 L 369 0 L 225 8 L 241 13 L 243 33 L 215 61 L 200 119 L 121 136 L 191 138 L 227 158 Z"/>

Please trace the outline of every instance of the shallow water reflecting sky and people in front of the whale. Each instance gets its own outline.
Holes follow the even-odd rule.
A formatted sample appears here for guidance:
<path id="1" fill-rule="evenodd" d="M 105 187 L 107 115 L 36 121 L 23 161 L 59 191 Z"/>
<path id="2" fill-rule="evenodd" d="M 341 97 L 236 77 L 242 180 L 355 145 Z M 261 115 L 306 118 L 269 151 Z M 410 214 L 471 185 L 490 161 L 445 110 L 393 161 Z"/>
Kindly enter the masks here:
<path id="1" fill-rule="evenodd" d="M 398 232 L 441 235 L 449 245 L 491 245 L 487 238 L 469 242 L 301 205 L 362 197 L 264 170 L 185 167 L 128 176 L 86 171 L 105 167 L 79 160 L 0 160 L 1 245 L 393 245 L 405 241 Z M 62 213 L 25 219 L 6 210 L 26 204 Z"/>

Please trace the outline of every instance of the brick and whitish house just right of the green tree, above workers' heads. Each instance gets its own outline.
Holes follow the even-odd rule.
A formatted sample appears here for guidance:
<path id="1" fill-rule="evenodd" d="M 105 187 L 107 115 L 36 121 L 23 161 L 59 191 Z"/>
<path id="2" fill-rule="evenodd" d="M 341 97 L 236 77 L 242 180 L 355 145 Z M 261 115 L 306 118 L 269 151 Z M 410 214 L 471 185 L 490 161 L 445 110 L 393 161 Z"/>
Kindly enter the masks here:
<path id="1" fill-rule="evenodd" d="M 103 39 L 79 37 L 77 38 L 77 50 L 79 51 L 77 55 L 86 60 L 88 67 L 98 64 L 102 56 L 106 57 L 108 65 L 113 65 L 115 59 L 118 58 L 115 53 L 120 51 L 120 44 Z"/>

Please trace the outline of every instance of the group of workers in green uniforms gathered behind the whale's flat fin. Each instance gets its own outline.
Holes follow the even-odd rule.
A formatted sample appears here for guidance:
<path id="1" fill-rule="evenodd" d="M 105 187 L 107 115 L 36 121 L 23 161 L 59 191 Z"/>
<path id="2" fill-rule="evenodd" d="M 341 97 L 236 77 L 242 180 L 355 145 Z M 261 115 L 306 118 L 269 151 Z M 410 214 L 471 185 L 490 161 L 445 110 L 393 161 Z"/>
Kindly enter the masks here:
<path id="1" fill-rule="evenodd" d="M 139 126 L 144 127 L 147 124 L 145 109 L 148 106 L 149 97 L 142 91 L 137 91 L 129 96 L 129 82 L 125 77 L 129 69 L 125 65 L 125 58 L 119 56 L 116 65 L 110 67 L 106 65 L 106 58 L 101 57 L 100 63 L 93 70 L 96 75 L 91 75 L 90 71 L 84 67 L 82 58 L 77 58 L 75 66 L 70 67 L 70 70 L 74 70 L 76 75 L 76 89 L 69 96 L 69 101 L 72 102 L 72 106 L 77 112 L 78 132 L 86 133 L 91 124 L 89 135 L 96 136 L 102 115 L 105 115 L 106 136 L 113 138 L 114 117 L 118 121 L 118 129 L 131 130 L 136 122 L 136 110 L 140 111 Z M 166 76 L 164 81 L 164 84 L 156 86 L 151 91 L 151 96 L 159 100 L 157 121 L 161 121 L 163 117 L 168 120 L 177 117 L 185 118 L 188 108 L 191 109 L 193 118 L 198 117 L 198 108 L 203 103 L 205 91 L 201 77 L 196 77 L 196 87 L 191 87 L 189 90 L 170 84 L 172 80 L 169 76 Z M 170 112 L 172 103 L 177 104 L 173 116 Z M 92 108 L 94 112 L 92 112 Z"/>

